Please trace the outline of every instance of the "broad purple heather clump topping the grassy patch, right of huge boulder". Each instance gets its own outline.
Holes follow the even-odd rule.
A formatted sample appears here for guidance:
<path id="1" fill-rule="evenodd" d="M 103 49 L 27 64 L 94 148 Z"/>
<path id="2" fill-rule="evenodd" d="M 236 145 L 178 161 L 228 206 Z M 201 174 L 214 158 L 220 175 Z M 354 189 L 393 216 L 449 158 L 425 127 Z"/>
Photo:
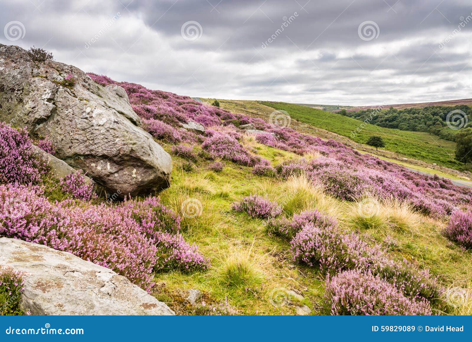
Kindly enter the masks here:
<path id="1" fill-rule="evenodd" d="M 240 165 L 254 166 L 258 161 L 235 138 L 221 132 L 214 132 L 203 141 L 202 149 L 210 152 L 214 158 L 227 159 Z"/>

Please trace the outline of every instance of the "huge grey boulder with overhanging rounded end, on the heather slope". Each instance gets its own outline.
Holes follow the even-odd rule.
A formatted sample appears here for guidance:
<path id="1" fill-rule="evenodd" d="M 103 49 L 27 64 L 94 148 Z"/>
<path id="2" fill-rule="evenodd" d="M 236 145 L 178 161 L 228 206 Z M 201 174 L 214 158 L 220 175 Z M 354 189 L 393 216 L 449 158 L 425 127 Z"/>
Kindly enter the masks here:
<path id="1" fill-rule="evenodd" d="M 63 86 L 68 74 L 73 87 Z M 117 85 L 102 87 L 82 70 L 33 61 L 18 46 L 0 44 L 0 121 L 48 136 L 56 157 L 119 197 L 169 186 L 172 160 Z"/>

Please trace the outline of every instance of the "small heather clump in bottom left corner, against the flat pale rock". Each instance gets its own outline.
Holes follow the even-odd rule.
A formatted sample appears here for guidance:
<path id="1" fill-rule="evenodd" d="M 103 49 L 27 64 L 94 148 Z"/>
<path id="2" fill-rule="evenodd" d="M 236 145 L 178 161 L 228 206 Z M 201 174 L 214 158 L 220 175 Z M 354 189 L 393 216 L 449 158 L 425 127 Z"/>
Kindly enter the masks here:
<path id="1" fill-rule="evenodd" d="M 0 267 L 0 316 L 23 315 L 20 301 L 24 283 L 20 272 Z"/>

